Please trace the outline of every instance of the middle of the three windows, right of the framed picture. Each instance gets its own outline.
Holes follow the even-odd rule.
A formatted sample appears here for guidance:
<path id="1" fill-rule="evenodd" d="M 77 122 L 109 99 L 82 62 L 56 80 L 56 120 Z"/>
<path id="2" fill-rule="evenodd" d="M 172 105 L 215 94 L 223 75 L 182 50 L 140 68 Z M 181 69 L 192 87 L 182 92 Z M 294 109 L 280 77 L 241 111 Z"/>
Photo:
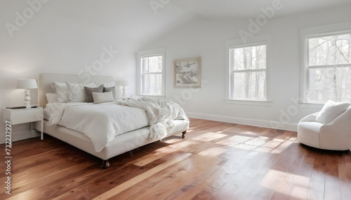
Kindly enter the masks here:
<path id="1" fill-rule="evenodd" d="M 228 100 L 269 101 L 269 48 L 270 36 L 227 41 Z"/>

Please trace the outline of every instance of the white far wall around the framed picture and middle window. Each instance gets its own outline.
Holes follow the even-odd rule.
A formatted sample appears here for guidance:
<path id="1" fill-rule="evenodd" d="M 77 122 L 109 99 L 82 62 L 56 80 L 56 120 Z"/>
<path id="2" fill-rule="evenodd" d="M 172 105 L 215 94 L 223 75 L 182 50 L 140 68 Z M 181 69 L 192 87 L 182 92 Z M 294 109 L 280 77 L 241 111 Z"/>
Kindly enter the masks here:
<path id="1" fill-rule="evenodd" d="M 240 29 L 249 31 L 249 19 L 198 20 L 145 44 L 140 50 L 166 47 L 166 99 L 178 97 L 190 117 L 263 127 L 277 127 L 279 123 L 280 129 L 296 130 L 302 117 L 318 110 L 300 108 L 292 100 L 299 98 L 299 29 L 350 21 L 350 10 L 348 6 L 272 18 L 255 34 L 272 34 L 272 106 L 225 103 L 225 41 L 240 38 Z M 202 61 L 201 90 L 173 88 L 173 59 L 197 56 Z"/>

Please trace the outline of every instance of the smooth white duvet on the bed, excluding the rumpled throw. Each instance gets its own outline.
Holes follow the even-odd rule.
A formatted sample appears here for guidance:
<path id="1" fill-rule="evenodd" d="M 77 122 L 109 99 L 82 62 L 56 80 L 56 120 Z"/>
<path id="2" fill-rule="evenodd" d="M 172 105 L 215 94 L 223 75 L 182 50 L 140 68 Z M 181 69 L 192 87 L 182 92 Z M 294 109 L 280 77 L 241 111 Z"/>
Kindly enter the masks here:
<path id="1" fill-rule="evenodd" d="M 96 152 L 105 148 L 115 136 L 149 125 L 145 110 L 119 106 L 115 102 L 57 105 L 49 122 L 84 133 L 91 138 Z"/>

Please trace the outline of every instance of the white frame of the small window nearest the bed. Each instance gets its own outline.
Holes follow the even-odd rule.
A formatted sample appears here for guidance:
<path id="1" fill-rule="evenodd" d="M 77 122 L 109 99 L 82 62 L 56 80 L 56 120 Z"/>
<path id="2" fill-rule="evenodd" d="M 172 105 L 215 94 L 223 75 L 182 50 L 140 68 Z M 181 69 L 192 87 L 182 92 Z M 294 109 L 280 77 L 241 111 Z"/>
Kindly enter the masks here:
<path id="1" fill-rule="evenodd" d="M 162 56 L 162 86 L 161 94 L 144 94 L 143 93 L 143 68 L 141 66 L 141 59 L 143 57 Z M 165 97 L 166 85 L 166 48 L 157 48 L 152 50 L 144 50 L 136 53 L 136 91 L 137 95 L 147 97 Z"/>

